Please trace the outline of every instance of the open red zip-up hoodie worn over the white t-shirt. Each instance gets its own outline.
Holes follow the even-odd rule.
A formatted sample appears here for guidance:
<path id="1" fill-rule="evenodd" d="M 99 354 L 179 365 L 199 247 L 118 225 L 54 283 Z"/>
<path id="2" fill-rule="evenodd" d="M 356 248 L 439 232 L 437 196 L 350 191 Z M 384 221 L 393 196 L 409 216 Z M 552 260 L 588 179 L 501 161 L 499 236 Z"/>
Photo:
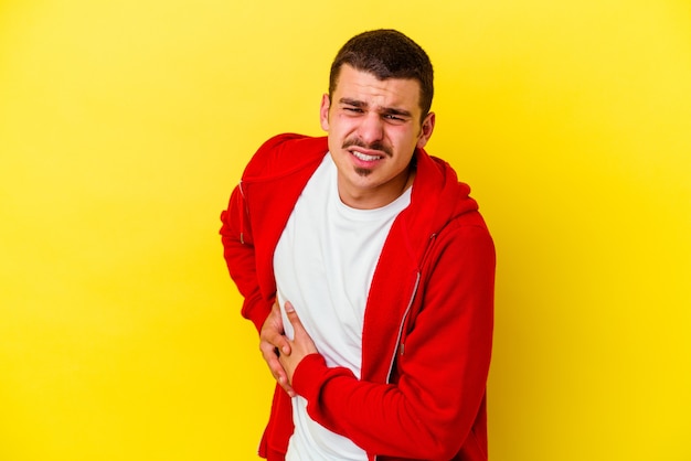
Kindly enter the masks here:
<path id="1" fill-rule="evenodd" d="M 221 215 L 224 256 L 257 331 L 276 296 L 274 250 L 327 138 L 280 135 L 254 156 Z M 495 247 L 469 187 L 418 149 L 411 204 L 391 227 L 372 279 L 362 377 L 312 354 L 293 388 L 309 416 L 370 460 L 487 460 Z M 291 403 L 276 387 L 259 454 L 283 460 Z"/>

